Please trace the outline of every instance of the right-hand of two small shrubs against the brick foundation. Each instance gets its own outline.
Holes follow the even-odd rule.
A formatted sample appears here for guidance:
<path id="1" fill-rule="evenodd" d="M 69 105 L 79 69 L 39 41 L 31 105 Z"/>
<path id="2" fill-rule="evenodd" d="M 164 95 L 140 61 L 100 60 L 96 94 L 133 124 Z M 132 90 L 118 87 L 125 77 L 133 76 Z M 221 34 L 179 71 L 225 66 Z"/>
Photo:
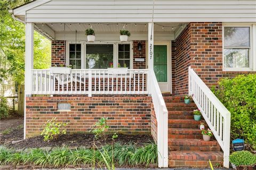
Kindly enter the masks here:
<path id="1" fill-rule="evenodd" d="M 107 125 L 108 118 L 102 117 L 97 123 L 95 123 L 92 127 L 91 132 L 94 134 L 96 139 L 107 139 L 106 131 L 109 126 Z"/>

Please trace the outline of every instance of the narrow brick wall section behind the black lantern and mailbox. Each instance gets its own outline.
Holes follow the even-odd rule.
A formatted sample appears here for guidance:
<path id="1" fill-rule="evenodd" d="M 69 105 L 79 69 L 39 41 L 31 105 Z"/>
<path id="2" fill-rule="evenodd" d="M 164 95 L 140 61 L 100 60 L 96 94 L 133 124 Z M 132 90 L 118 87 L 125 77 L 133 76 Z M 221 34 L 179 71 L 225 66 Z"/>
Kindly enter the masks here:
<path id="1" fill-rule="evenodd" d="M 138 44 L 142 44 L 142 50 L 138 50 Z M 144 58 L 144 62 L 135 62 L 135 58 Z M 146 69 L 146 41 L 133 41 L 133 69 Z"/>

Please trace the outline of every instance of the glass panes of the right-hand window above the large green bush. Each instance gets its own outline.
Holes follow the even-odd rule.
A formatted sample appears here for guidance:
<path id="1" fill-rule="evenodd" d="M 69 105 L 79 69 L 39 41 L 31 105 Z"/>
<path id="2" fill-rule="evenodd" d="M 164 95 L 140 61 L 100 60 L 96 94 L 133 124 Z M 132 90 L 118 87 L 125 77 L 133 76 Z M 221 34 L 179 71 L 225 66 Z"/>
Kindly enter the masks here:
<path id="1" fill-rule="evenodd" d="M 250 27 L 224 28 L 224 67 L 250 68 Z"/>

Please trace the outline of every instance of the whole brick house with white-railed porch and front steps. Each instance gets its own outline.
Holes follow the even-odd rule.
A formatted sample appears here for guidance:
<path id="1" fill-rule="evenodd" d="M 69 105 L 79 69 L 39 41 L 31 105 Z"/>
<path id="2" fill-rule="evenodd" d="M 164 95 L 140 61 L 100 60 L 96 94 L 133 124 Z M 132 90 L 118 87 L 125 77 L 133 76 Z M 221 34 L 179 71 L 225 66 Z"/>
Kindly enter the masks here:
<path id="1" fill-rule="evenodd" d="M 255 9 L 238 0 L 38 0 L 10 10 L 26 24 L 25 138 L 52 117 L 69 122 L 68 133 L 108 117 L 110 132 L 153 135 L 159 167 L 229 167 L 230 113 L 209 87 L 256 72 Z M 131 32 L 124 42 L 122 29 Z M 34 30 L 52 41 L 50 69 L 33 69 Z M 195 108 L 212 141 L 202 140 Z"/>

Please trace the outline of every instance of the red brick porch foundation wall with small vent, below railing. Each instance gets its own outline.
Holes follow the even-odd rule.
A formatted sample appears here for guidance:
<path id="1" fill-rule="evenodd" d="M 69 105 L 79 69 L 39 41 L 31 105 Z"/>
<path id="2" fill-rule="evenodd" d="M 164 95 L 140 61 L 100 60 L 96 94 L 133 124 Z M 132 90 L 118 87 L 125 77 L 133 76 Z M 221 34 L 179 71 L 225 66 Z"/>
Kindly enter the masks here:
<path id="1" fill-rule="evenodd" d="M 58 103 L 70 103 L 70 112 L 57 111 Z M 58 96 L 26 98 L 26 135 L 39 135 L 47 120 L 68 122 L 67 133 L 88 132 L 101 117 L 108 117 L 109 131 L 150 133 L 151 97 L 148 96 Z"/>

